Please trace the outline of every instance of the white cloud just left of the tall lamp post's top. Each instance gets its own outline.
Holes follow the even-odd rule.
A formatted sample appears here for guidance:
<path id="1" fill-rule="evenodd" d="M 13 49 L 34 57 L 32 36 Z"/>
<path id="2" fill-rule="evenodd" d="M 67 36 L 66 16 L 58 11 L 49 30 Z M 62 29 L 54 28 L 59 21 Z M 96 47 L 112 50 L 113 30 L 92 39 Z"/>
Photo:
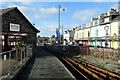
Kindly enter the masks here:
<path id="1" fill-rule="evenodd" d="M 53 15 L 58 13 L 58 9 L 55 7 L 51 7 L 51 8 L 40 8 L 40 13 L 41 14 L 47 14 L 47 15 Z"/>

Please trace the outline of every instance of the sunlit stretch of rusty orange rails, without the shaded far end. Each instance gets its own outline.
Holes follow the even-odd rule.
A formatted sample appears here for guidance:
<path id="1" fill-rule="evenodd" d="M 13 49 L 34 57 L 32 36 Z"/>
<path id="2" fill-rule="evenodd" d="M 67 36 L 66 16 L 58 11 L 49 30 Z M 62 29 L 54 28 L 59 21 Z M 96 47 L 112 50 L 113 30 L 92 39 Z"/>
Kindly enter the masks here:
<path id="1" fill-rule="evenodd" d="M 66 56 L 61 56 L 59 59 L 74 69 L 76 74 L 80 75 L 77 76 L 76 79 L 82 78 L 86 80 L 120 80 L 120 75 L 95 67 L 78 59 Z"/>

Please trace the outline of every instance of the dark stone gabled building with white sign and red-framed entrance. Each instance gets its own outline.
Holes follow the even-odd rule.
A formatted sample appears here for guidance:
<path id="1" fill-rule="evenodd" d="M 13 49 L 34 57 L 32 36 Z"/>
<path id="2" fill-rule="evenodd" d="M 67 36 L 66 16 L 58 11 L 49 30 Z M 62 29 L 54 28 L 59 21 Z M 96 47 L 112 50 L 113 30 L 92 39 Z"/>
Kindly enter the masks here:
<path id="1" fill-rule="evenodd" d="M 11 50 L 16 43 L 36 46 L 37 30 L 17 7 L 0 10 L 2 17 L 2 50 Z"/>

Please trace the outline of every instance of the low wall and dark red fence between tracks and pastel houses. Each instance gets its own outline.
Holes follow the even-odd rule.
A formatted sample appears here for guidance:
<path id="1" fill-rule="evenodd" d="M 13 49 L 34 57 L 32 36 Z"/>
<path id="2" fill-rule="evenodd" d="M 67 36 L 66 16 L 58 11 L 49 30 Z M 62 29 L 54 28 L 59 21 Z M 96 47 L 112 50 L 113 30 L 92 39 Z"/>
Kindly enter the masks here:
<path id="1" fill-rule="evenodd" d="M 67 53 L 78 53 L 80 55 L 89 55 L 104 59 L 118 61 L 120 58 L 119 49 L 107 49 L 96 47 L 78 47 L 78 46 L 54 46 L 55 48 L 66 51 Z"/>

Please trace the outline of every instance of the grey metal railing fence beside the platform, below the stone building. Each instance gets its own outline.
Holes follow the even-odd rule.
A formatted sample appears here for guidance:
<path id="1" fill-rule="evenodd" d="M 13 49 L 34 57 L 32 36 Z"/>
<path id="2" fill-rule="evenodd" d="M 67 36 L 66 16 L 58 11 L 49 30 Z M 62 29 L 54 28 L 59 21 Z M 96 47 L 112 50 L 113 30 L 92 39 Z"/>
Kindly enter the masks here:
<path id="1" fill-rule="evenodd" d="M 13 72 L 20 68 L 21 64 L 30 56 L 32 56 L 32 47 L 26 46 L 16 50 L 10 50 L 0 53 L 2 77 L 13 74 Z"/>

